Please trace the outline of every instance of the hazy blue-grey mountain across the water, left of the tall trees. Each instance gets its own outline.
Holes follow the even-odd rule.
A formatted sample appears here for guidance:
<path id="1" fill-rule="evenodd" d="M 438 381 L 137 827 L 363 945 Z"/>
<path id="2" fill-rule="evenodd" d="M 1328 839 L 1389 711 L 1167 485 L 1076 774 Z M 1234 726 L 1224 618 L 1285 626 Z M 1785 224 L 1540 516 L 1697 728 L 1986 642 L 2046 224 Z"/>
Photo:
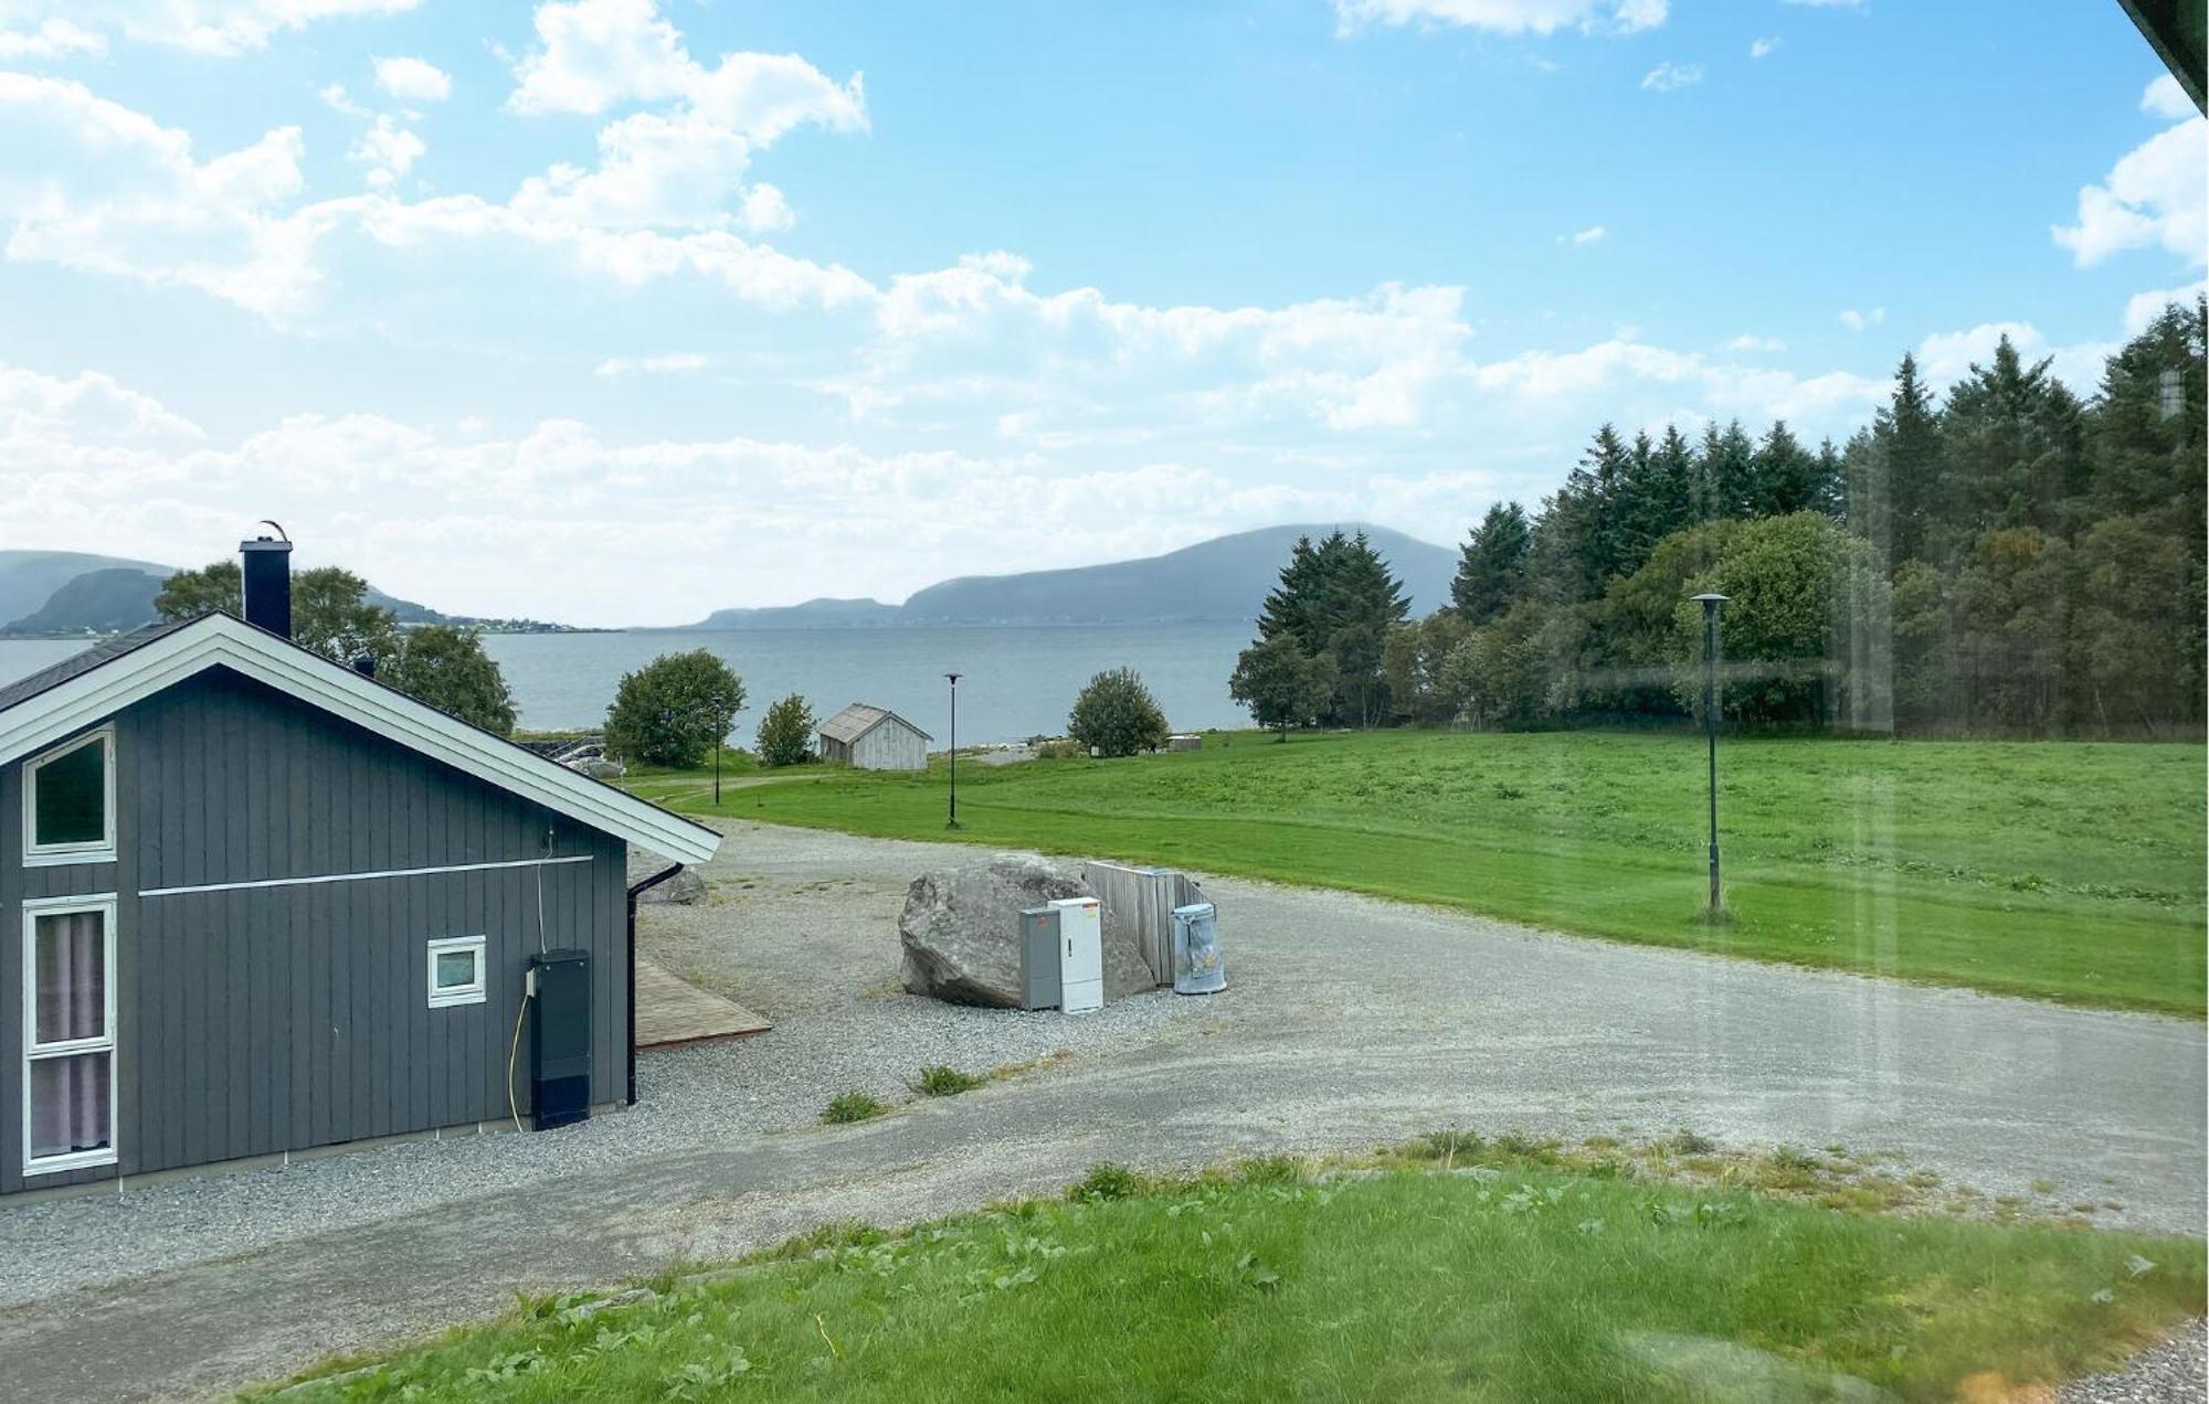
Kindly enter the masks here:
<path id="1" fill-rule="evenodd" d="M 691 629 L 797 629 L 884 625 L 1133 625 L 1257 618 L 1297 536 L 1332 525 L 1279 525 L 1217 536 L 1164 556 L 1032 570 L 1016 576 L 961 576 L 917 592 L 901 607 L 875 600 L 808 600 L 780 609 L 720 609 Z M 1403 532 L 1363 530 L 1405 585 L 1414 614 L 1449 603 L 1458 552 Z"/>

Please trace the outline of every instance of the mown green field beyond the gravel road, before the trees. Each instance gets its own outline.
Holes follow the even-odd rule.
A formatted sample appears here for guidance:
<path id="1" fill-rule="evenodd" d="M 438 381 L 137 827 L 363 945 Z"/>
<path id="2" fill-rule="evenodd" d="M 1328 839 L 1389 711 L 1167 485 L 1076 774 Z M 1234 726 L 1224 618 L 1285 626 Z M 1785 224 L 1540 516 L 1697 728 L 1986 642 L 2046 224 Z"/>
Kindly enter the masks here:
<path id="1" fill-rule="evenodd" d="M 691 812 L 1122 857 L 1511 921 L 2202 1015 L 2200 744 L 1727 740 L 1732 925 L 1697 921 L 1701 737 L 1378 731 L 1211 735 L 1204 751 L 926 775 L 694 775 Z"/>

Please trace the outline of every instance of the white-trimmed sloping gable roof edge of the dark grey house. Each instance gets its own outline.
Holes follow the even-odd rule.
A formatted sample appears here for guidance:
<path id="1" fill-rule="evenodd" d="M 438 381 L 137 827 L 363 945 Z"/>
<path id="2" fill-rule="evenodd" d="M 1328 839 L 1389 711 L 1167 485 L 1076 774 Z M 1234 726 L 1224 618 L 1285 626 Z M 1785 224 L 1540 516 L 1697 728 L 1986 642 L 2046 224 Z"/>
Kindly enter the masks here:
<path id="1" fill-rule="evenodd" d="M 702 823 L 415 702 L 393 687 L 362 678 L 230 614 L 203 614 L 124 634 L 0 689 L 0 766 L 212 667 L 228 667 L 409 751 L 669 859 L 702 863 L 720 848 L 720 834 Z"/>

